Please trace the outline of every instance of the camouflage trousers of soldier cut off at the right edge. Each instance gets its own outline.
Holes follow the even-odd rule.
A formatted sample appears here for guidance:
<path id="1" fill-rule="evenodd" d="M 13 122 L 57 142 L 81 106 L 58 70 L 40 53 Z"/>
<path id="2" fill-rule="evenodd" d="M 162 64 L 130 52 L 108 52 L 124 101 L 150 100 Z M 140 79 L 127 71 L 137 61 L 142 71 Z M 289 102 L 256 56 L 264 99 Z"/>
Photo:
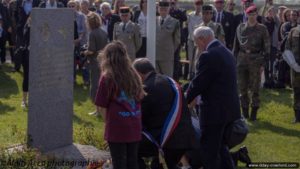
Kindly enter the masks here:
<path id="1" fill-rule="evenodd" d="M 294 110 L 300 111 L 300 73 L 291 70 L 291 81 L 294 90 Z"/>

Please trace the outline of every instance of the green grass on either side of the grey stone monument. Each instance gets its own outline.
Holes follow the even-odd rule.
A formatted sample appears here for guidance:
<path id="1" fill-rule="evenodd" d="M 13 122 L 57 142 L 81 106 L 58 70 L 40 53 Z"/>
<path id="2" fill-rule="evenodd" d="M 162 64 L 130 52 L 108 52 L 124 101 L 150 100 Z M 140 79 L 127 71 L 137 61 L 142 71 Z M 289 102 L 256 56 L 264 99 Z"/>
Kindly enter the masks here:
<path id="1" fill-rule="evenodd" d="M 22 73 L 11 73 L 11 66 L 4 65 L 0 70 L 0 147 L 9 147 L 25 142 L 27 129 L 27 109 L 21 108 Z M 95 108 L 89 99 L 89 89 L 77 77 L 74 88 L 74 142 L 103 145 L 104 125 L 101 118 L 89 116 Z M 92 140 L 89 139 L 94 137 Z"/>

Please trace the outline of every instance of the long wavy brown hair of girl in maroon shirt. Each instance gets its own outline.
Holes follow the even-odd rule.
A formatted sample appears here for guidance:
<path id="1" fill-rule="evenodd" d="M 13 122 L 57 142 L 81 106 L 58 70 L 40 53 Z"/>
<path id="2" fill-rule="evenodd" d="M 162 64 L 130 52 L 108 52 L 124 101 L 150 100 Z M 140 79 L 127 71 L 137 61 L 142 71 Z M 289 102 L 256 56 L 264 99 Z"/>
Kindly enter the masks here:
<path id="1" fill-rule="evenodd" d="M 109 97 L 116 97 L 123 90 L 129 98 L 142 99 L 145 92 L 140 76 L 131 65 L 125 46 L 120 41 L 106 45 L 100 53 L 102 75 L 112 83 Z M 109 84 L 111 84 L 109 83 Z"/>

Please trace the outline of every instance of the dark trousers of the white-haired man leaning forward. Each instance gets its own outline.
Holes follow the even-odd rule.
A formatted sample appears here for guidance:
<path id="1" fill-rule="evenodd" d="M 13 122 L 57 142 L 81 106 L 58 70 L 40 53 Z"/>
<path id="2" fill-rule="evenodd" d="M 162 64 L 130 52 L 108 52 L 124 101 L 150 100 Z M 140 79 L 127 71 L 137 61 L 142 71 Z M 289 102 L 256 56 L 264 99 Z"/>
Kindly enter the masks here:
<path id="1" fill-rule="evenodd" d="M 225 124 L 201 126 L 200 159 L 205 169 L 234 169 L 224 143 Z"/>

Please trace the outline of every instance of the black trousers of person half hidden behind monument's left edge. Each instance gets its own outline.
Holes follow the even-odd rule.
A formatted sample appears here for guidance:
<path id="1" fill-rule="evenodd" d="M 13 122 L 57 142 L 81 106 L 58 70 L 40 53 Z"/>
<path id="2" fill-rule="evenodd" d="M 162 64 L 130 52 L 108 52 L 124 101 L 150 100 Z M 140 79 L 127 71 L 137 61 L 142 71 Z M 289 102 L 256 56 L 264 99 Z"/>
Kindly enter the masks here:
<path id="1" fill-rule="evenodd" d="M 22 89 L 23 92 L 28 92 L 28 84 L 29 84 L 29 51 L 28 50 L 24 50 L 23 52 L 22 67 L 23 67 Z"/>

